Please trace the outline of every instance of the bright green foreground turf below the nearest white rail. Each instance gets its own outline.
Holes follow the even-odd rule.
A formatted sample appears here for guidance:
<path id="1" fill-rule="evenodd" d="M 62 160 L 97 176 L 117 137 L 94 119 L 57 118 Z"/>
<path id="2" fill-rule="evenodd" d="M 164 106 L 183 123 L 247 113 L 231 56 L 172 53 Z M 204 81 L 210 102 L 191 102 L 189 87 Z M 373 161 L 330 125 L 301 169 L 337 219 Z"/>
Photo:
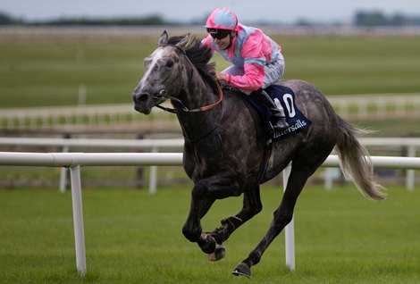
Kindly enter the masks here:
<path id="1" fill-rule="evenodd" d="M 281 234 L 253 267 L 253 283 L 416 283 L 420 280 L 420 188 L 389 187 L 384 202 L 353 186 L 307 188 L 295 213 L 296 271 L 284 264 Z M 83 191 L 88 274 L 76 272 L 71 194 L 55 188 L 0 190 L 0 279 L 4 283 L 242 283 L 230 271 L 263 237 L 281 189 L 262 189 L 262 213 L 209 263 L 181 227 L 189 188 Z M 218 201 L 203 221 L 213 230 L 241 198 Z"/>

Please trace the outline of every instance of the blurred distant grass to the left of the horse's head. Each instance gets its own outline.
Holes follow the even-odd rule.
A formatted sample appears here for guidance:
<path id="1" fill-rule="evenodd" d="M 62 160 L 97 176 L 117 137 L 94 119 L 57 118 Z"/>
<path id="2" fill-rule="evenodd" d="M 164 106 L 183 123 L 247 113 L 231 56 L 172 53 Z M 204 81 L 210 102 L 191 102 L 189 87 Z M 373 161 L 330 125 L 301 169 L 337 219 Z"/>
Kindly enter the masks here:
<path id="1" fill-rule="evenodd" d="M 140 43 L 0 44 L 2 107 L 129 103 L 147 48 Z M 148 48 L 148 51 L 151 47 Z"/>

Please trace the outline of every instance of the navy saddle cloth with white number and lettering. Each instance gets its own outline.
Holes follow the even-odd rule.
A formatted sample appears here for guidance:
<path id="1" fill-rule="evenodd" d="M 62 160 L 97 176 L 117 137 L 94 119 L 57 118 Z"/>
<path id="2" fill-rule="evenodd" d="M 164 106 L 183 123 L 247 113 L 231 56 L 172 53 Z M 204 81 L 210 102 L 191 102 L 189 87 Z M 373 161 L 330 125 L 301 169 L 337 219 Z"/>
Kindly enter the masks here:
<path id="1" fill-rule="evenodd" d="M 265 88 L 265 91 L 273 99 L 277 108 L 279 108 L 280 112 L 286 117 L 286 121 L 290 125 L 288 129 L 281 131 L 276 130 L 273 132 L 270 124 L 270 110 L 265 105 L 259 104 L 256 100 L 252 99 L 252 96 L 245 96 L 245 100 L 256 110 L 259 121 L 262 122 L 267 139 L 272 139 L 273 142 L 277 142 L 310 127 L 312 121 L 309 121 L 307 117 L 298 110 L 298 107 L 295 104 L 295 93 L 291 88 L 273 85 Z"/>

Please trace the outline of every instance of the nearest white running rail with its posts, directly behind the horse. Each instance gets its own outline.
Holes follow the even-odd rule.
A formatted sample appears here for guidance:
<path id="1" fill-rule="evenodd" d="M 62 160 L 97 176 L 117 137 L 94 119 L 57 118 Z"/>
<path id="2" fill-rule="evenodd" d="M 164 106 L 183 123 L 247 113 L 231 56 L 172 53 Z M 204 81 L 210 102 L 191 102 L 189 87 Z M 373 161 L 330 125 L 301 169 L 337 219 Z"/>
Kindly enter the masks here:
<path id="1" fill-rule="evenodd" d="M 372 156 L 375 167 L 420 169 L 420 158 Z M 81 200 L 80 166 L 110 165 L 181 165 L 181 153 L 16 153 L 0 152 L 0 164 L 14 166 L 70 167 L 71 197 L 74 221 L 76 266 L 80 275 L 86 274 L 86 248 Z M 339 166 L 338 157 L 330 155 L 326 167 Z M 287 184 L 290 166 L 283 171 L 283 187 Z M 286 265 L 295 269 L 293 220 L 285 229 Z"/>

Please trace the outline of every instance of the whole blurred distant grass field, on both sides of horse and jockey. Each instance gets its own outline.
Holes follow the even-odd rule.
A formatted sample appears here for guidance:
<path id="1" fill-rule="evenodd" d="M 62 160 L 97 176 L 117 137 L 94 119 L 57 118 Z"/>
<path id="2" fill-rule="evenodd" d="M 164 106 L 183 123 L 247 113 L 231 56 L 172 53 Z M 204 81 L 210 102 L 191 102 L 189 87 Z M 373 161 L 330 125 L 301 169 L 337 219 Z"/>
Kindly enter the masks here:
<path id="1" fill-rule="evenodd" d="M 170 30 L 171 33 L 171 30 Z M 155 37 L 102 41 L 0 41 L 0 107 L 130 103 Z M 202 37 L 202 35 L 198 35 Z M 281 36 L 286 79 L 305 79 L 327 96 L 419 92 L 418 37 Z M 228 66 L 220 56 L 217 68 Z"/>

